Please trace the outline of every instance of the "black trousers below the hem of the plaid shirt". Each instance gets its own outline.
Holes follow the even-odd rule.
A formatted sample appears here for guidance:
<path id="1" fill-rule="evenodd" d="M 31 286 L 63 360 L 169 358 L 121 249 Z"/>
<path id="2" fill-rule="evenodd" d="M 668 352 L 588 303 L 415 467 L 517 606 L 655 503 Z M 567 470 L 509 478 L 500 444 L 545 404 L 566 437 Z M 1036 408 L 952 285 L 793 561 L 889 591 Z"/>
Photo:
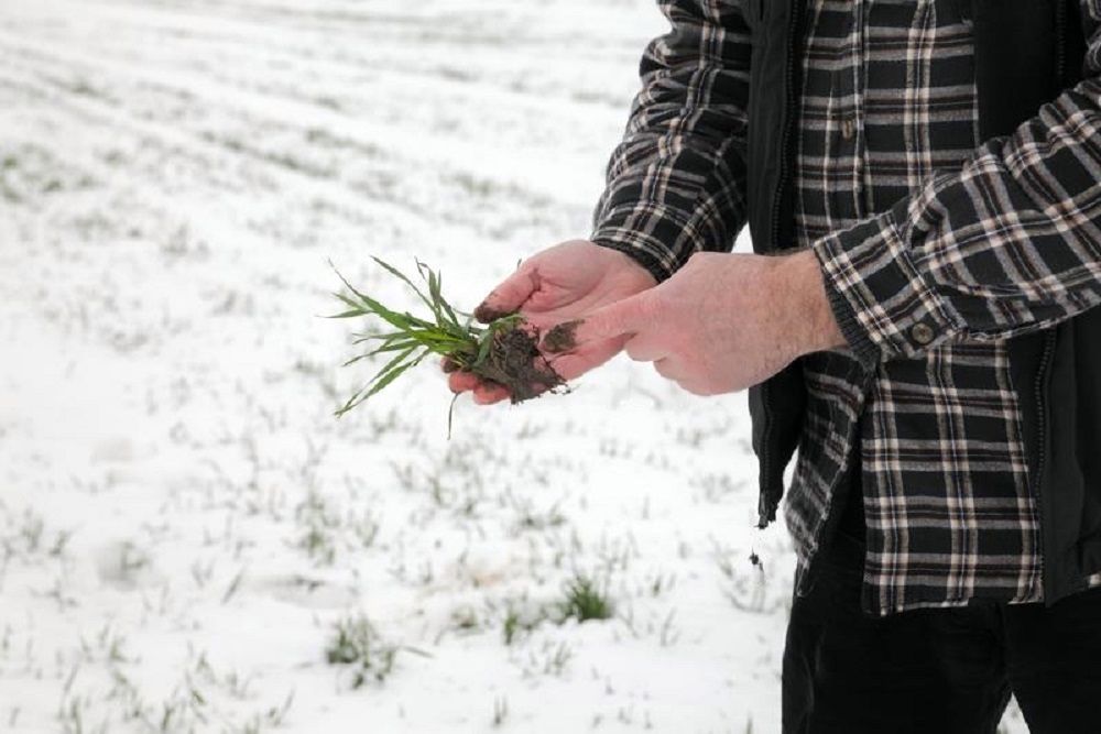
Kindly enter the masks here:
<path id="1" fill-rule="evenodd" d="M 843 516 L 851 528 L 857 515 Z M 860 609 L 862 537 L 838 533 L 794 600 L 784 734 L 995 734 L 1011 691 L 1033 734 L 1101 733 L 1101 589 L 1050 609 L 986 602 L 872 617 Z"/>

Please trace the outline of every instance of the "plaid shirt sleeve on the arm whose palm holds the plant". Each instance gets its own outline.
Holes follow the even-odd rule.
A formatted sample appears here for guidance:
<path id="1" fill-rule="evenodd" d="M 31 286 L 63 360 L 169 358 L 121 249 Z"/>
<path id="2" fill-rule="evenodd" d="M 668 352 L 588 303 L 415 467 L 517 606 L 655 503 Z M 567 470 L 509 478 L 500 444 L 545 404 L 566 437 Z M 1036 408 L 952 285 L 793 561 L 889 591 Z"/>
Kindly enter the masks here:
<path id="1" fill-rule="evenodd" d="M 659 0 L 642 89 L 607 169 L 590 240 L 657 278 L 729 251 L 745 221 L 750 32 L 739 0 Z"/>

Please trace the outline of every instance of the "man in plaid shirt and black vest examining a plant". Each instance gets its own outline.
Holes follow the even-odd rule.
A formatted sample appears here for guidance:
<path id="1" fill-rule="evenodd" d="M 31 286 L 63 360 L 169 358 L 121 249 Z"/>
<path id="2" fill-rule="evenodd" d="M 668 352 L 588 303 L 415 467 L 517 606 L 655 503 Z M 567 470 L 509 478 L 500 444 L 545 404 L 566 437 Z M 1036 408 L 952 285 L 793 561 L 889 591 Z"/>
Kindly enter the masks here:
<path id="1" fill-rule="evenodd" d="M 480 314 L 750 388 L 762 523 L 798 443 L 785 732 L 1101 731 L 1101 0 L 659 6 L 590 240 Z"/>

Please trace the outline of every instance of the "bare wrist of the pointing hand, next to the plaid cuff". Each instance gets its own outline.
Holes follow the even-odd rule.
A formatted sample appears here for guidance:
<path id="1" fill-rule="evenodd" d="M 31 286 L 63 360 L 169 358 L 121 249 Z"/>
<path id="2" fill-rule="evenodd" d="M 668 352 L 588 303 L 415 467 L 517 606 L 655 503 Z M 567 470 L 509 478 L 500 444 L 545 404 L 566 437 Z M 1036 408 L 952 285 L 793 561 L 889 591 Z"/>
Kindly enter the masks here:
<path id="1" fill-rule="evenodd" d="M 798 354 L 844 347 L 848 341 L 830 307 L 825 274 L 814 251 L 800 250 L 788 255 L 785 265 L 782 270 L 787 287 L 784 291 L 791 295 L 788 303 Z"/>

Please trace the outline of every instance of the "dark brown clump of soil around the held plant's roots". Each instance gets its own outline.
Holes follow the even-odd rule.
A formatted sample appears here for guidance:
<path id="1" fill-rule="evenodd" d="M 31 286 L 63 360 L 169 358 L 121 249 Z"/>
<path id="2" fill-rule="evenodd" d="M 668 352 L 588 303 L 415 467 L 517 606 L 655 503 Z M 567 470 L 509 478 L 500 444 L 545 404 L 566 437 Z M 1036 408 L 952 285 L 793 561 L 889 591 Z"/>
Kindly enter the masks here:
<path id="1" fill-rule="evenodd" d="M 538 349 L 538 332 L 514 325 L 493 335 L 489 352 L 471 372 L 509 391 L 513 405 L 565 386 Z"/>

